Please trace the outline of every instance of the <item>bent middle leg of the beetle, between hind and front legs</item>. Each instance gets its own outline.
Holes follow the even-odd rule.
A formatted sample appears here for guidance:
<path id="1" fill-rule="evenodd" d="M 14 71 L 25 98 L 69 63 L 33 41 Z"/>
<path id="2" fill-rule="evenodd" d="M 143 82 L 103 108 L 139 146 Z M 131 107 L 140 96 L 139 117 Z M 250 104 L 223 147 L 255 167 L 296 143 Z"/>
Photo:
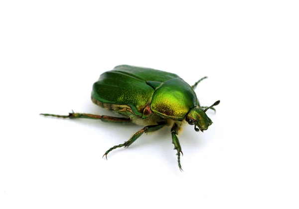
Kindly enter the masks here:
<path id="1" fill-rule="evenodd" d="M 105 156 L 107 159 L 107 154 L 109 152 L 111 152 L 112 150 L 119 148 L 119 147 L 128 147 L 130 146 L 136 139 L 138 139 L 142 134 L 144 133 L 149 133 L 149 132 L 155 132 L 161 128 L 163 128 L 165 126 L 165 124 L 157 124 L 157 125 L 151 125 L 151 126 L 146 126 L 145 128 L 143 128 L 142 130 L 140 130 L 139 132 L 137 132 L 135 135 L 133 135 L 133 137 L 131 137 L 129 140 L 125 141 L 124 143 L 121 143 L 119 145 L 113 146 L 110 149 L 108 149 L 105 154 L 103 155 L 103 157 Z"/>

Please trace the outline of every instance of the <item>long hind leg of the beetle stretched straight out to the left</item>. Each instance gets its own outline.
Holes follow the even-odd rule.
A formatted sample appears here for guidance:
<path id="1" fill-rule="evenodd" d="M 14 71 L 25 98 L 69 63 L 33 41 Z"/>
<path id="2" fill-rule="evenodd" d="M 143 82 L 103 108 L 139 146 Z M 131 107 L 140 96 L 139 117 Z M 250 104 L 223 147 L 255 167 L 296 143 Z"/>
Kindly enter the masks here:
<path id="1" fill-rule="evenodd" d="M 93 115 L 93 114 L 86 114 L 86 113 L 69 113 L 69 115 L 53 115 L 53 114 L 40 114 L 44 116 L 52 116 L 57 118 L 87 118 L 87 119 L 99 119 L 103 122 L 110 122 L 110 123 L 131 123 L 130 118 L 118 118 L 112 117 L 107 115 Z"/>

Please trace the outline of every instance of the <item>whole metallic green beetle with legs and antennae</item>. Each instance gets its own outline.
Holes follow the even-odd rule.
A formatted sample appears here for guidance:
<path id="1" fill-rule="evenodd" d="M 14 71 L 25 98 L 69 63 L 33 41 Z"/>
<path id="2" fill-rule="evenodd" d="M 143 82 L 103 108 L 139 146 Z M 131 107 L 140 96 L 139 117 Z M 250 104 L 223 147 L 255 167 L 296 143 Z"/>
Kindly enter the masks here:
<path id="1" fill-rule="evenodd" d="M 209 107 L 200 106 L 194 89 L 207 77 L 190 86 L 178 75 L 135 66 L 117 66 L 101 74 L 93 84 L 91 99 L 93 103 L 121 114 L 123 117 L 99 116 L 86 113 L 69 113 L 69 115 L 41 114 L 59 118 L 100 119 L 112 123 L 135 123 L 145 127 L 128 141 L 108 149 L 105 154 L 118 147 L 128 147 L 142 134 L 155 132 L 164 126 L 171 126 L 174 149 L 180 170 L 180 153 L 183 153 L 177 135 L 180 127 L 188 123 L 196 132 L 207 130 L 212 124 L 206 115 L 208 109 L 215 111 L 220 101 Z"/>

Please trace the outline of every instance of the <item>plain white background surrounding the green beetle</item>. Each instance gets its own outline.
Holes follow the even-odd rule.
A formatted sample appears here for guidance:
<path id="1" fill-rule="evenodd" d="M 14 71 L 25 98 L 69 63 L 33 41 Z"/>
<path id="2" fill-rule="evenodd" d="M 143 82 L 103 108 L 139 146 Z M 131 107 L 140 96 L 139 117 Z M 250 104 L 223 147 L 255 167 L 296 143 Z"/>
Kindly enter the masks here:
<path id="1" fill-rule="evenodd" d="M 0 3 L 0 208 L 299 208 L 299 6 L 292 0 Z M 93 82 L 127 64 L 177 73 L 204 133 L 39 113 L 109 114 Z"/>

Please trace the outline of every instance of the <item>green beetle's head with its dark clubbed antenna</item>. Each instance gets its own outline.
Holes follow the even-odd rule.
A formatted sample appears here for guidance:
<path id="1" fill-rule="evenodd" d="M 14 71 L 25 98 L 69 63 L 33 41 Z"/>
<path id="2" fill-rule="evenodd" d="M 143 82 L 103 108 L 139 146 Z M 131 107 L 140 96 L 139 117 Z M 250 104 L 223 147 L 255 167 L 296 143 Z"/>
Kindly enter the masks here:
<path id="1" fill-rule="evenodd" d="M 207 130 L 208 127 L 213 123 L 211 119 L 207 116 L 205 113 L 209 108 L 216 106 L 220 103 L 220 101 L 216 101 L 213 105 L 206 109 L 202 109 L 200 107 L 194 107 L 190 110 L 190 112 L 186 116 L 186 121 L 189 125 L 194 125 L 194 130 L 196 132 L 203 132 L 204 130 Z M 198 128 L 197 128 L 197 127 Z"/>

